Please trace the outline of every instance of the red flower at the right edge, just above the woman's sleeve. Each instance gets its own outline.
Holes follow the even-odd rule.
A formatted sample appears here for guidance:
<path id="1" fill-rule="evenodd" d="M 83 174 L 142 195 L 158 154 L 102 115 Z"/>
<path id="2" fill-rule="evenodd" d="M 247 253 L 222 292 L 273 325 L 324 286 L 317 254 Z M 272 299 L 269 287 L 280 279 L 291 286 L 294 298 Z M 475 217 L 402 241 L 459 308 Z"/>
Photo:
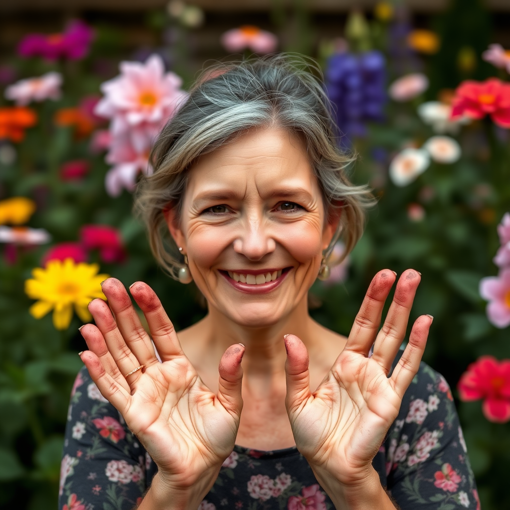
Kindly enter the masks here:
<path id="1" fill-rule="evenodd" d="M 481 356 L 471 363 L 457 385 L 461 400 L 483 399 L 483 414 L 489 421 L 510 420 L 510 360 L 498 362 Z"/>

